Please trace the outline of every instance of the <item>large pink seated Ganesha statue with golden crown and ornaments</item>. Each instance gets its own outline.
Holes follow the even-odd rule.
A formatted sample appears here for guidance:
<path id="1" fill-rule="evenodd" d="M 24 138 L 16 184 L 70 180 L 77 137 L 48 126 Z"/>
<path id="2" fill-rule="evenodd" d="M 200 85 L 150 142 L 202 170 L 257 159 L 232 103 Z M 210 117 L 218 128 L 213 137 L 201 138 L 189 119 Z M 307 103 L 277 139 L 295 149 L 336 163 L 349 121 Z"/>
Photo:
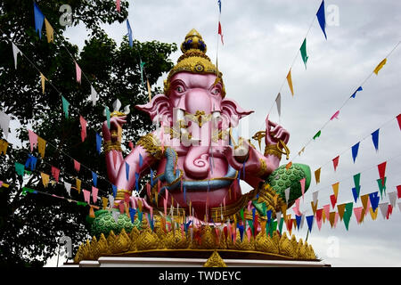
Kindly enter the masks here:
<path id="1" fill-rule="evenodd" d="M 305 178 L 304 191 L 310 184 L 309 167 L 279 167 L 282 154 L 288 159 L 289 132 L 266 118 L 266 131 L 253 136 L 259 147 L 265 138 L 264 153 L 248 138 L 237 137 L 235 127 L 253 111 L 226 97 L 222 73 L 209 60 L 195 29 L 185 37 L 181 51 L 184 54 L 164 83 L 164 94 L 135 106 L 149 114 L 157 129 L 136 142 L 126 158 L 120 133 L 127 117 L 113 112 L 110 128 L 103 123 L 108 175 L 118 189 L 114 208 L 128 205 L 137 213 L 157 215 L 173 210 L 175 215 L 190 216 L 193 224 L 241 220 L 243 209 L 248 218 L 251 213 L 255 217 L 256 210 L 259 218 L 269 220 L 278 212 L 284 214 L 301 196 L 299 181 Z M 135 188 L 148 174 L 147 194 L 138 197 Z M 240 180 L 253 190 L 242 194 Z"/>

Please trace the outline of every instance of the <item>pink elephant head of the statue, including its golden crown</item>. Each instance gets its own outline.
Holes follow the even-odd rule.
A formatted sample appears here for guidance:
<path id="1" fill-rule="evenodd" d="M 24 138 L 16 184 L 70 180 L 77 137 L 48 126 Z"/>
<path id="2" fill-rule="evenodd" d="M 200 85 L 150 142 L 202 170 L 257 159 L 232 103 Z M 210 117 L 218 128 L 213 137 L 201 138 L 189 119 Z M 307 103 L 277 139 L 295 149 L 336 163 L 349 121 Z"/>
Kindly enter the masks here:
<path id="1" fill-rule="evenodd" d="M 160 121 L 162 131 L 168 126 L 180 134 L 178 143 L 189 148 L 184 159 L 185 175 L 193 179 L 206 178 L 209 173 L 213 132 L 235 127 L 253 112 L 225 98 L 222 74 L 205 54 L 206 49 L 201 35 L 192 29 L 181 45 L 184 54 L 168 74 L 164 94 L 135 106 L 153 121 Z"/>

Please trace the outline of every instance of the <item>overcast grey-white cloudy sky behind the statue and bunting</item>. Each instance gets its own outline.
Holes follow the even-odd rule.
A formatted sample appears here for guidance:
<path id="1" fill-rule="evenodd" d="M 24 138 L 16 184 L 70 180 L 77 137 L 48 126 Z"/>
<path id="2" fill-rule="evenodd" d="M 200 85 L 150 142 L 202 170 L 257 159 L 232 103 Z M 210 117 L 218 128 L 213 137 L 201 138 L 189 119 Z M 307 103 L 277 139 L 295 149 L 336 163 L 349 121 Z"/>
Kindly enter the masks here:
<path id="1" fill-rule="evenodd" d="M 208 45 L 209 57 L 216 61 L 217 1 L 130 3 L 128 19 L 136 39 L 180 45 L 186 33 L 196 28 Z M 313 179 L 300 203 L 307 216 L 312 212 L 312 192 L 319 191 L 318 208 L 322 208 L 330 203 L 333 183 L 340 182 L 338 204 L 353 201 L 352 176 L 359 172 L 361 195 L 378 191 L 377 165 L 381 162 L 388 161 L 387 192 L 396 191 L 401 184 L 401 132 L 395 119 L 401 110 L 401 45 L 390 54 L 379 75 L 369 77 L 401 40 L 401 2 L 325 1 L 326 17 L 331 20 L 326 27 L 327 40 L 315 19 L 320 4 L 321 0 L 222 0 L 225 45 L 218 44 L 219 69 L 223 72 L 227 96 L 244 109 L 255 110 L 249 117 L 250 136 L 264 129 L 269 110 L 270 118 L 279 121 L 274 99 L 281 91 L 280 123 L 291 133 L 288 144 L 291 159 L 309 165 L 312 172 L 322 167 L 321 183 L 316 185 Z M 126 23 L 104 28 L 117 43 L 127 34 Z M 81 27 L 68 28 L 66 32 L 80 47 L 86 34 Z M 299 56 L 306 35 L 307 69 Z M 180 54 L 180 51 L 173 54 L 173 61 Z M 291 72 L 292 97 L 284 80 L 297 54 Z M 158 85 L 166 77 L 167 74 L 161 77 Z M 332 120 L 316 141 L 307 144 L 367 77 L 364 91 L 348 101 L 340 110 L 339 119 Z M 376 152 L 371 134 L 379 127 L 380 145 Z M 351 146 L 356 142 L 361 143 L 353 163 Z M 306 144 L 305 152 L 297 157 Z M 340 163 L 334 172 L 331 159 L 338 155 Z M 282 164 L 287 162 L 282 159 Z M 243 191 L 249 191 L 249 186 L 244 185 Z M 388 200 L 387 195 L 381 202 Z M 354 206 L 361 206 L 360 199 Z M 368 215 L 363 224 L 356 224 L 352 216 L 349 231 L 340 221 L 336 229 L 331 229 L 329 223 L 323 224 L 321 231 L 314 224 L 307 241 L 332 266 L 401 266 L 400 226 L 401 213 L 397 207 L 389 220 L 379 213 L 375 221 Z M 295 233 L 298 239 L 305 240 L 307 224 Z"/>

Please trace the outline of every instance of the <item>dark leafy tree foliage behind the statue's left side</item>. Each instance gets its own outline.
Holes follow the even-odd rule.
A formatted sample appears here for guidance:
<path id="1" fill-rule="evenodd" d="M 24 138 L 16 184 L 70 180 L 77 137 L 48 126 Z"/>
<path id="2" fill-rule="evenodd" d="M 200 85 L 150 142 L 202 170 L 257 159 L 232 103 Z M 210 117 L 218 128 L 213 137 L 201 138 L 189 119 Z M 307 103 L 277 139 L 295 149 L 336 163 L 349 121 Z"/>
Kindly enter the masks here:
<path id="1" fill-rule="evenodd" d="M 73 25 L 85 27 L 89 33 L 81 51 L 63 36 L 68 27 L 59 22 L 61 4 L 70 4 Z M 102 115 L 104 106 L 112 109 L 112 102 L 117 98 L 123 107 L 131 106 L 123 133 L 123 150 L 127 155 L 128 142 L 135 142 L 151 131 L 150 119 L 134 108 L 136 104 L 148 101 L 141 82 L 140 59 L 146 62 L 146 77 L 152 85 L 163 72 L 172 68 L 168 56 L 176 51 L 175 44 L 158 41 L 134 41 L 135 47 L 131 48 L 127 37 L 118 46 L 106 35 L 102 29 L 104 24 L 119 21 L 126 28 L 123 21 L 127 18 L 127 1 L 122 1 L 120 12 L 116 11 L 114 0 L 46 0 L 37 1 L 37 5 L 54 28 L 54 43 L 47 43 L 45 25 L 41 39 L 36 33 L 31 1 L 4 0 L 0 3 L 0 110 L 20 122 L 17 136 L 21 142 L 10 142 L 7 154 L 0 155 L 0 181 L 11 184 L 9 188 L 0 188 L 0 265 L 42 266 L 57 253 L 57 240 L 61 236 L 71 238 L 74 252 L 79 243 L 86 240 L 88 207 L 50 195 L 23 195 L 22 188 L 27 186 L 66 197 L 68 194 L 62 181 L 74 185 L 78 177 L 82 180 L 82 188 L 91 190 L 90 168 L 99 175 L 99 196 L 107 197 L 111 186 L 107 178 L 102 179 L 107 177 L 104 154 L 99 155 L 95 149 L 95 134 L 102 133 L 105 119 Z M 42 94 L 39 71 L 26 57 L 19 55 L 18 68 L 14 68 L 9 39 L 48 79 L 45 94 Z M 73 59 L 85 73 L 81 84 L 76 82 Z M 91 85 L 99 94 L 95 106 L 90 98 Z M 69 118 L 64 118 L 62 113 L 61 94 L 70 102 Z M 88 122 L 85 142 L 80 138 L 79 115 Z M 38 159 L 36 170 L 22 179 L 16 174 L 14 163 L 25 164 L 28 159 L 28 129 L 48 144 L 45 158 Z M 32 154 L 39 157 L 37 150 Z M 74 170 L 72 159 L 81 162 L 79 173 Z M 61 169 L 61 183 L 45 188 L 40 172 L 51 175 L 51 166 Z M 70 199 L 83 201 L 82 191 L 71 190 Z M 96 205 L 101 206 L 101 201 Z"/>

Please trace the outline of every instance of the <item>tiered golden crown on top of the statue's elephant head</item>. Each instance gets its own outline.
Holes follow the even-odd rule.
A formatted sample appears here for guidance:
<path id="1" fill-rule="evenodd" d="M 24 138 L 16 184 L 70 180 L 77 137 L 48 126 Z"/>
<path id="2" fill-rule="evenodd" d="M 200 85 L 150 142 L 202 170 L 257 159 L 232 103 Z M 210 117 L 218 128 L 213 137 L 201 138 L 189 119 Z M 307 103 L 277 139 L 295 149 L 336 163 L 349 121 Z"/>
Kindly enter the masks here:
<path id="1" fill-rule="evenodd" d="M 177 73 L 188 71 L 198 74 L 216 74 L 217 78 L 223 84 L 223 74 L 218 71 L 217 67 L 210 61 L 206 55 L 207 45 L 203 41 L 201 34 L 194 28 L 185 36 L 184 42 L 181 44 L 181 52 L 184 54 L 178 58 L 176 66 L 168 73 L 167 80 L 164 81 L 164 94 L 168 95 L 170 80 Z M 222 96 L 225 97 L 225 87 L 223 84 Z"/>

